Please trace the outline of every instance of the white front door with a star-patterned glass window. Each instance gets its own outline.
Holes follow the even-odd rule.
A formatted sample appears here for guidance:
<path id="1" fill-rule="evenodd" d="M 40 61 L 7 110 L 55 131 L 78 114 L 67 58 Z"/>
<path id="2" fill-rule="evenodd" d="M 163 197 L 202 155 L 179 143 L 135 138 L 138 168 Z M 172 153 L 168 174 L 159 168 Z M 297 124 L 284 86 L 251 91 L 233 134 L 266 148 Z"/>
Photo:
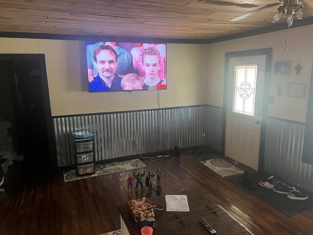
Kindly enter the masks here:
<path id="1" fill-rule="evenodd" d="M 258 170 L 266 55 L 229 59 L 225 156 Z"/>

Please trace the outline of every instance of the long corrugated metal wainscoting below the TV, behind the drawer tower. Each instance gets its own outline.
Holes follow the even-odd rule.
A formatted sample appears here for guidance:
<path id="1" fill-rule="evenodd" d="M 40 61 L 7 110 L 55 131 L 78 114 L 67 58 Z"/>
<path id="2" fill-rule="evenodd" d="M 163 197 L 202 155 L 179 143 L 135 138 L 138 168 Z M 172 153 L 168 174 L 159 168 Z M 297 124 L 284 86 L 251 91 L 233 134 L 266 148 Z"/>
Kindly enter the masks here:
<path id="1" fill-rule="evenodd" d="M 71 133 L 81 129 L 94 133 L 96 161 L 174 146 L 207 144 L 221 150 L 222 109 L 207 105 L 53 118 L 53 125 L 58 166 L 74 164 Z M 137 140 L 140 150 L 131 137 Z"/>

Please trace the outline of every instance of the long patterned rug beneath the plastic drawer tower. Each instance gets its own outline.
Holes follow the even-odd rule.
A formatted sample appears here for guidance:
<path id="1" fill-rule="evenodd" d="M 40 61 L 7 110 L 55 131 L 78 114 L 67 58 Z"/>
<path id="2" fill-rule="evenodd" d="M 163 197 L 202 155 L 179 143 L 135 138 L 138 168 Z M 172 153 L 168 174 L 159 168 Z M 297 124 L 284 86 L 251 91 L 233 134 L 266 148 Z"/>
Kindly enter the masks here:
<path id="1" fill-rule="evenodd" d="M 139 159 L 133 159 L 133 160 L 127 160 L 123 162 L 113 162 L 109 164 L 99 164 L 95 165 L 95 173 L 92 175 L 87 175 L 87 176 L 76 176 L 76 170 L 66 170 L 63 171 L 64 174 L 64 181 L 73 181 L 73 180 L 80 180 L 80 179 L 85 179 L 85 178 L 90 178 L 94 176 L 99 176 L 99 175 L 106 175 L 106 174 L 111 174 L 119 171 L 124 171 L 124 170 L 132 170 L 136 168 L 141 168 L 145 167 L 146 165 L 143 164 Z"/>

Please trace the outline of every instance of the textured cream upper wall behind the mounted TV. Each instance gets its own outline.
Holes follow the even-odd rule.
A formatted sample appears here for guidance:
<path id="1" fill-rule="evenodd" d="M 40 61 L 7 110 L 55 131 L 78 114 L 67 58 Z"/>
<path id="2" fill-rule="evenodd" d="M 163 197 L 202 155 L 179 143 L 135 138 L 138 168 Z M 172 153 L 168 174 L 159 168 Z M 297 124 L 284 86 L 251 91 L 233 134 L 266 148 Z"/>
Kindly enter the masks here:
<path id="1" fill-rule="evenodd" d="M 0 53 L 45 54 L 52 116 L 153 109 L 156 91 L 89 93 L 81 73 L 84 42 L 0 38 Z M 205 104 L 203 45 L 167 44 L 167 87 L 161 107 Z M 87 66 L 86 66 L 87 68 Z"/>

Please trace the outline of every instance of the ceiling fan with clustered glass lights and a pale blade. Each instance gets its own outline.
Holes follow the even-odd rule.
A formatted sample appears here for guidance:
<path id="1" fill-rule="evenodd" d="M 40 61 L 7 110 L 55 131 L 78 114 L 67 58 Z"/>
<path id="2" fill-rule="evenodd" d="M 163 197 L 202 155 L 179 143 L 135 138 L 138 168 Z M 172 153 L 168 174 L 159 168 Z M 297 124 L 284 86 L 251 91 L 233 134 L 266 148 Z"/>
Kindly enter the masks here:
<path id="1" fill-rule="evenodd" d="M 259 7 L 253 11 L 250 11 L 250 12 L 247 12 L 247 13 L 241 15 L 241 16 L 235 17 L 229 21 L 231 21 L 231 22 L 240 21 L 240 20 L 245 19 L 246 17 L 252 15 L 255 12 L 261 11 L 264 8 L 269 8 L 269 7 L 278 6 L 278 5 L 281 5 L 281 6 L 279 6 L 277 9 L 278 13 L 274 16 L 273 23 L 277 22 L 281 15 L 287 15 L 288 16 L 287 23 L 289 26 L 291 26 L 291 24 L 293 22 L 292 15 L 296 14 L 296 16 L 299 20 L 302 19 L 303 13 L 301 10 L 303 8 L 303 4 L 299 3 L 299 0 L 279 0 L 279 2 Z"/>

